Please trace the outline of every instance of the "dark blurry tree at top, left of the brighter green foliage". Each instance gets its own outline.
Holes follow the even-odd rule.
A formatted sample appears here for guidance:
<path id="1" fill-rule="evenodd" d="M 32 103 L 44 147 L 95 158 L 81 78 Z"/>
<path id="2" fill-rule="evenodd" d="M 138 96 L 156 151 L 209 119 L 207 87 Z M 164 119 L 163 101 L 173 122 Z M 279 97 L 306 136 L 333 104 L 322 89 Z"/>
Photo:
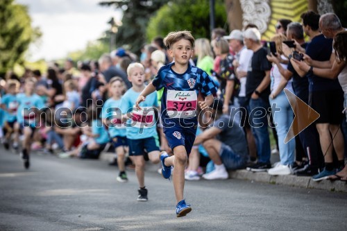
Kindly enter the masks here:
<path id="1" fill-rule="evenodd" d="M 121 8 L 124 12 L 116 34 L 117 46 L 126 46 L 134 53 L 140 53 L 146 42 L 146 27 L 153 13 L 169 0 L 116 0 L 101 1 L 101 6 Z"/>

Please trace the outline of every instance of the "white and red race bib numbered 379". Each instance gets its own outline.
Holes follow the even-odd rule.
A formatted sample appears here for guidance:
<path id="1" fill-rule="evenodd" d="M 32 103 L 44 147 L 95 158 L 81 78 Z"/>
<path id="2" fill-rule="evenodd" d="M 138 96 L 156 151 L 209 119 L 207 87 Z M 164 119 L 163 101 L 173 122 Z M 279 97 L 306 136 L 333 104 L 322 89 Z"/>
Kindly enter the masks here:
<path id="1" fill-rule="evenodd" d="M 167 90 L 167 115 L 169 118 L 192 118 L 196 116 L 197 95 L 195 91 Z"/>

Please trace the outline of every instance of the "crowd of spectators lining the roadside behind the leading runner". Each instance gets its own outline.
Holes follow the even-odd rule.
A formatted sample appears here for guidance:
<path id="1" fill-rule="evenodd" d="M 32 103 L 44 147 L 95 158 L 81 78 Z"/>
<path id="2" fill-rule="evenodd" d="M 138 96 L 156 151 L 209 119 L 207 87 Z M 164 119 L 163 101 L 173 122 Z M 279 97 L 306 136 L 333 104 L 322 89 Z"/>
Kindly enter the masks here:
<path id="1" fill-rule="evenodd" d="M 347 32 L 332 13 L 309 11 L 301 19 L 301 23 L 278 20 L 276 35 L 267 42 L 252 24 L 230 35 L 216 28 L 210 39 L 196 40 L 190 63 L 213 76 L 219 91 L 210 110 L 199 113 L 201 126 L 186 180 L 226 179 L 228 169 L 347 180 Z M 134 62 L 142 64 L 145 82 L 150 83 L 174 60 L 162 37 L 155 37 L 139 56 L 119 48 L 99 60 L 67 59 L 63 66 L 52 62 L 44 73 L 26 69 L 18 78 L 9 72 L 0 85 L 3 146 L 24 150 L 24 157 L 36 150 L 62 158 L 97 159 L 109 151 L 115 153 L 110 164 L 123 172 L 121 163 L 131 165 L 132 160 L 126 157 L 126 148 L 110 145 L 113 137 L 101 110 L 132 87 L 128 67 Z M 285 138 L 294 112 L 285 89 L 320 114 L 289 142 Z M 157 92 L 158 105 L 161 94 Z M 301 123 L 300 117 L 306 115 L 296 116 Z M 160 149 L 170 153 L 160 126 L 156 139 Z M 272 149 L 278 149 L 280 157 L 272 164 L 271 133 Z"/>

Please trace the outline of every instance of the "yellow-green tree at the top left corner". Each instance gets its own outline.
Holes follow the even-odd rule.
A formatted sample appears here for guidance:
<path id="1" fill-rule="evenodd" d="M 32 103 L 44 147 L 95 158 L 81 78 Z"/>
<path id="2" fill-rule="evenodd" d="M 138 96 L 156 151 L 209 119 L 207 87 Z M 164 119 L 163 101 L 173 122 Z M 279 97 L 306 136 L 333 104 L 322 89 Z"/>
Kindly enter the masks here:
<path id="1" fill-rule="evenodd" d="M 41 32 L 31 27 L 26 6 L 2 0 L 0 12 L 0 76 L 4 76 L 16 63 L 24 63 L 25 51 Z"/>

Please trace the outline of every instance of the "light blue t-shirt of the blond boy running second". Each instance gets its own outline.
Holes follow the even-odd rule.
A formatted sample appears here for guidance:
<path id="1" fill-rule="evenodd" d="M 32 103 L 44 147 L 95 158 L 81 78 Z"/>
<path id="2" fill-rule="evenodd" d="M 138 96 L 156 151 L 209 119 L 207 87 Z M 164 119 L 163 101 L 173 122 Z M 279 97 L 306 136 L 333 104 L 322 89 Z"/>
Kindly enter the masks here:
<path id="1" fill-rule="evenodd" d="M 133 110 L 137 97 L 139 96 L 140 93 L 141 92 L 135 92 L 133 90 L 133 87 L 128 89 L 126 94 L 124 94 L 123 98 L 121 99 L 122 114 L 126 114 Z M 134 117 L 132 119 L 128 119 L 128 121 L 126 121 L 126 137 L 128 139 L 145 139 L 145 138 L 154 137 L 155 135 L 158 135 L 154 115 L 153 116 L 151 115 L 152 114 L 151 112 L 156 110 L 155 107 L 158 107 L 157 93 L 153 92 L 149 94 L 148 96 L 146 96 L 146 100 L 141 102 L 139 106 L 142 108 L 149 107 L 149 108 L 144 108 L 144 110 L 149 111 L 146 117 L 139 118 L 135 116 L 139 119 L 144 119 L 143 121 L 146 121 L 146 123 L 139 123 L 139 121 L 135 122 L 133 120 L 135 119 Z M 154 122 L 151 123 L 149 121 L 154 121 Z M 150 126 L 146 126 L 146 125 L 150 125 Z"/>

